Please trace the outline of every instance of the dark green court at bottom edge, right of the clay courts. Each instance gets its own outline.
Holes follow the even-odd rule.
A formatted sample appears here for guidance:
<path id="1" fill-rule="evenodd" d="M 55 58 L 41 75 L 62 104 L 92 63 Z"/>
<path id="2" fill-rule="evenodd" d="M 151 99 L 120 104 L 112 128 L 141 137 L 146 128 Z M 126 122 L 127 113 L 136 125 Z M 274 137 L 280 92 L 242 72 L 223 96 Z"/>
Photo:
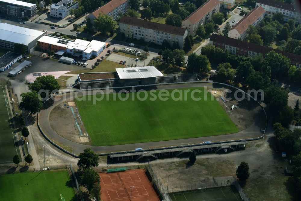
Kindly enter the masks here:
<path id="1" fill-rule="evenodd" d="M 234 186 L 169 193 L 169 196 L 173 201 L 241 200 L 240 195 Z"/>

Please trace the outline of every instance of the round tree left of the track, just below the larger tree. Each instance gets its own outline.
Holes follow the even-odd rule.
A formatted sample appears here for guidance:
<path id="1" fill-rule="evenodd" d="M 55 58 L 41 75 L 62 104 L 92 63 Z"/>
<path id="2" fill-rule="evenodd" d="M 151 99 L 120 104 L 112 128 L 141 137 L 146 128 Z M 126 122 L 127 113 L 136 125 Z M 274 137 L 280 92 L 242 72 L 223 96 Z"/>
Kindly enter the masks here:
<path id="1" fill-rule="evenodd" d="M 40 100 L 39 94 L 35 91 L 25 92 L 21 94 L 22 100 L 19 104 L 19 109 L 29 111 L 31 114 L 39 112 L 43 104 Z"/>

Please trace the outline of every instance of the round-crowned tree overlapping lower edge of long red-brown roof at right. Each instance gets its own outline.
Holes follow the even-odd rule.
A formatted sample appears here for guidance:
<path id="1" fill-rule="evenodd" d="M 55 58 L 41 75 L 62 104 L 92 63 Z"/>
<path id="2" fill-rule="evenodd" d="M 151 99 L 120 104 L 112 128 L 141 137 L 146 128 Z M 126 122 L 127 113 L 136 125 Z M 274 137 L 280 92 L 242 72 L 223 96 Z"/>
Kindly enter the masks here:
<path id="1" fill-rule="evenodd" d="M 265 54 L 264 61 L 271 67 L 271 78 L 282 78 L 290 69 L 290 59 L 281 53 L 270 51 Z"/>

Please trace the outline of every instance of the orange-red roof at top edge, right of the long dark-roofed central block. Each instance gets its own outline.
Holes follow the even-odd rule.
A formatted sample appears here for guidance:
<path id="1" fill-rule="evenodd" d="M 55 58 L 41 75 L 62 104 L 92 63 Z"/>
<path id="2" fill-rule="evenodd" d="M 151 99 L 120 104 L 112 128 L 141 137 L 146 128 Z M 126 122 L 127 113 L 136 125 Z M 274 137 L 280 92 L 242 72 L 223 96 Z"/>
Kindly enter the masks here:
<path id="1" fill-rule="evenodd" d="M 203 5 L 200 6 L 196 11 L 188 15 L 185 20 L 189 20 L 192 24 L 197 23 L 201 18 L 203 18 L 204 15 L 206 15 L 209 11 L 211 11 L 216 5 L 220 3 L 219 0 L 209 0 L 205 2 Z"/>

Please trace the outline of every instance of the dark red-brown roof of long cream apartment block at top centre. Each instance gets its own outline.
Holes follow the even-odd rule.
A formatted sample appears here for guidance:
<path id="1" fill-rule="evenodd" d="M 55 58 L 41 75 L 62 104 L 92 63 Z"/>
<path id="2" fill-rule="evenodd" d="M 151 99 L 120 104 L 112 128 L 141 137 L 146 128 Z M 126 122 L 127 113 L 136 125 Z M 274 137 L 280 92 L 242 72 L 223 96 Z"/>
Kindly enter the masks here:
<path id="1" fill-rule="evenodd" d="M 119 23 L 135 25 L 137 27 L 144 27 L 147 29 L 158 30 L 167 32 L 170 34 L 176 34 L 179 36 L 184 36 L 186 29 L 181 27 L 175 27 L 167 24 L 160 24 L 156 22 L 141 20 L 137 18 L 131 18 L 127 16 L 121 16 Z"/>

